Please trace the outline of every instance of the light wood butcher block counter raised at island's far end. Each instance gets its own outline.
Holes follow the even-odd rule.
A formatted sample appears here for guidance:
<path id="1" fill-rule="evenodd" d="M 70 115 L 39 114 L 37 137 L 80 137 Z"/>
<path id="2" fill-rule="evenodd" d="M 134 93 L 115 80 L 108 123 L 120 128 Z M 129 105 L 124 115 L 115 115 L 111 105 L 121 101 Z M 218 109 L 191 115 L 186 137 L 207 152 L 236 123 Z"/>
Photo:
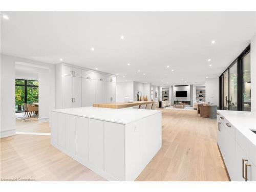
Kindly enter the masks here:
<path id="1" fill-rule="evenodd" d="M 150 104 L 154 101 L 133 101 L 133 102 L 115 102 L 115 103 L 93 103 L 93 106 L 96 108 L 112 108 L 112 109 L 122 109 L 130 108 L 136 105 Z"/>

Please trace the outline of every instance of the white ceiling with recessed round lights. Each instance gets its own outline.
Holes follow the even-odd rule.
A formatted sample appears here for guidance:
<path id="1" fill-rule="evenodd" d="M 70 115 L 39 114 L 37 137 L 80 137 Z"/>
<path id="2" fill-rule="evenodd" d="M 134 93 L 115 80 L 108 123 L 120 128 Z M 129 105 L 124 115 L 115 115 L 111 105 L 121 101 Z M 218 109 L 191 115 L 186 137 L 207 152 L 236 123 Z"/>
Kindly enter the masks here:
<path id="1" fill-rule="evenodd" d="M 62 58 L 73 65 L 119 73 L 119 82 L 158 86 L 204 83 L 206 76 L 217 77 L 249 44 L 256 18 L 255 12 L 2 14 L 9 20 L 1 17 L 1 53 L 53 64 Z M 213 39 L 216 44 L 211 45 Z"/>

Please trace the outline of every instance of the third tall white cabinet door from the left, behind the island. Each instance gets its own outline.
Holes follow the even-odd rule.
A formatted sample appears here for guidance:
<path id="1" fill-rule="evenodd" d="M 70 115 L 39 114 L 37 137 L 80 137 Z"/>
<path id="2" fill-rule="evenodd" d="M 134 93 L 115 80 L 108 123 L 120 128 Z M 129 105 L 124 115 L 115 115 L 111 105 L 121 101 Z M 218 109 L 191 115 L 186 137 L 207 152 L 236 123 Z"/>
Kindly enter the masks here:
<path id="1" fill-rule="evenodd" d="M 95 103 L 95 80 L 82 78 L 82 106 Z"/>

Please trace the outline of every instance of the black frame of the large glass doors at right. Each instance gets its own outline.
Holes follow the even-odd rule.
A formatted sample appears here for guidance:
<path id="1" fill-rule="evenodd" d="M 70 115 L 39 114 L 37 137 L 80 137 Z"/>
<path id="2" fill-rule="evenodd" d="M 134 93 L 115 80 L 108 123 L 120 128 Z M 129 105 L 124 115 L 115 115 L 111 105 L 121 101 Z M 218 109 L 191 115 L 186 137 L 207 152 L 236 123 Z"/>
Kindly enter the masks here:
<path id="1" fill-rule="evenodd" d="M 243 58 L 244 56 L 250 52 L 250 44 L 240 53 L 240 55 L 234 59 L 233 62 L 225 69 L 225 71 L 219 76 L 219 108 L 220 110 L 223 110 L 223 75 L 225 72 L 228 71 L 228 79 L 229 79 L 229 69 L 234 65 L 234 63 L 237 62 L 237 73 L 238 73 L 238 79 L 237 79 L 237 86 L 238 86 L 238 91 L 237 91 L 237 99 L 238 99 L 238 106 L 237 106 L 237 111 L 243 111 Z M 229 82 L 228 82 L 228 96 L 229 96 Z M 228 104 L 228 110 L 229 110 L 229 104 Z"/>

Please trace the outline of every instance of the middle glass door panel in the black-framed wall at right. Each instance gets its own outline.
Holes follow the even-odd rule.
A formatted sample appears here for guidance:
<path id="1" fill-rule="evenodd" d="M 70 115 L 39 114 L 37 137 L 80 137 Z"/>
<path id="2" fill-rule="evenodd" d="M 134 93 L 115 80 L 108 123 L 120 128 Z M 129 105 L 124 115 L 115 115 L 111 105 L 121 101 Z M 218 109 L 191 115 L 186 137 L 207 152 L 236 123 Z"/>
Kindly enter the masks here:
<path id="1" fill-rule="evenodd" d="M 229 110 L 238 110 L 238 65 L 234 63 L 229 69 Z"/>

